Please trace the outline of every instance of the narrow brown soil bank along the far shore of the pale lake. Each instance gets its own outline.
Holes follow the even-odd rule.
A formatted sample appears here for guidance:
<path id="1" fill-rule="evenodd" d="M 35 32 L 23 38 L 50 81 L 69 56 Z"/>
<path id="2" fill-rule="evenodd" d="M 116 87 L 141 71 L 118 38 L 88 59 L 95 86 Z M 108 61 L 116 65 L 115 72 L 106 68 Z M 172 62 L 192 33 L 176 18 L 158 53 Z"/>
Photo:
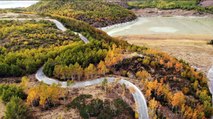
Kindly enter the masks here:
<path id="1" fill-rule="evenodd" d="M 145 8 L 145 9 L 133 9 L 132 10 L 137 16 L 153 17 L 153 16 L 209 16 L 213 17 L 212 14 L 200 13 L 194 10 L 160 10 L 157 8 Z"/>

